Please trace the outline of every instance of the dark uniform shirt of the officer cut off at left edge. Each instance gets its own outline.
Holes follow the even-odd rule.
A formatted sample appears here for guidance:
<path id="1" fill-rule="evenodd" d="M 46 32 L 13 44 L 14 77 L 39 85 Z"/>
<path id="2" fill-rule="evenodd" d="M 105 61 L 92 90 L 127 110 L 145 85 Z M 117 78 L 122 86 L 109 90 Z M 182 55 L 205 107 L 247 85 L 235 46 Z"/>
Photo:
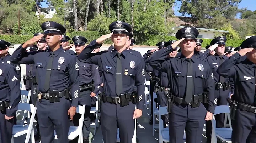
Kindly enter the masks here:
<path id="1" fill-rule="evenodd" d="M 15 67 L 9 63 L 0 63 L 0 101 L 9 101 L 6 116 L 16 116 L 18 103 L 21 100 L 20 82 Z"/>

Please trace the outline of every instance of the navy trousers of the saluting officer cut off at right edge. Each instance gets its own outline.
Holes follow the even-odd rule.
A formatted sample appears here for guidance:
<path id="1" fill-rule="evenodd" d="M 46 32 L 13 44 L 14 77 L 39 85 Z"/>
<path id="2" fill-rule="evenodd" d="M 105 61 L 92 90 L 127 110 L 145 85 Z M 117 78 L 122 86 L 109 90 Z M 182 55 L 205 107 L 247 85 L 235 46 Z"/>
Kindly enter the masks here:
<path id="1" fill-rule="evenodd" d="M 256 114 L 236 110 L 232 120 L 232 143 L 256 143 Z"/>

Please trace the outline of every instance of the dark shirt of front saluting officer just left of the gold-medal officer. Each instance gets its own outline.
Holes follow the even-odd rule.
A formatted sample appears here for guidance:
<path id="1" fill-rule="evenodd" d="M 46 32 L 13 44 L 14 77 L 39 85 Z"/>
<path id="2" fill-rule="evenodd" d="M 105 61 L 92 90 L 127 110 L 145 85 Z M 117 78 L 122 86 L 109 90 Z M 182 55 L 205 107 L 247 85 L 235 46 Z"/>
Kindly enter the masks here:
<path id="1" fill-rule="evenodd" d="M 25 50 L 25 48 L 22 48 L 22 45 L 18 47 L 11 56 L 11 62 L 18 62 L 20 64 L 34 63 L 38 74 L 37 89 L 42 93 L 47 93 L 43 87 L 46 79 L 47 62 L 50 59 L 50 48 L 44 51 L 33 51 L 29 53 L 26 53 Z M 77 97 L 79 92 L 78 69 L 75 68 L 77 66 L 76 56 L 71 55 L 61 47 L 53 53 L 53 65 L 50 75 L 49 90 L 63 91 L 71 85 L 72 106 L 76 107 L 78 105 Z"/>

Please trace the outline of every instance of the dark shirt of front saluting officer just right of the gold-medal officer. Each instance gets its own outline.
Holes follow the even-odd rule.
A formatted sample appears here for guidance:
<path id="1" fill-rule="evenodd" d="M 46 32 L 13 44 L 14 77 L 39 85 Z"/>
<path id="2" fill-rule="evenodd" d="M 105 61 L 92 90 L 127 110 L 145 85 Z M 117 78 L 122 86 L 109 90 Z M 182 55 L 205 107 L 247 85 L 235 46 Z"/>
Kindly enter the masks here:
<path id="1" fill-rule="evenodd" d="M 167 46 L 164 50 L 159 50 L 149 57 L 149 64 L 160 70 L 166 72 L 171 88 L 171 94 L 176 97 L 185 98 L 186 81 L 187 81 L 187 61 L 186 57 L 181 55 L 180 58 L 166 59 L 166 56 L 173 51 L 171 46 Z M 212 71 L 207 62 L 196 58 L 194 55 L 191 57 L 193 64 L 193 81 L 194 90 L 193 94 L 208 93 L 208 107 L 207 111 L 214 113 L 214 79 Z M 199 69 L 199 64 L 203 66 Z M 200 66 L 200 67 L 202 67 Z"/>

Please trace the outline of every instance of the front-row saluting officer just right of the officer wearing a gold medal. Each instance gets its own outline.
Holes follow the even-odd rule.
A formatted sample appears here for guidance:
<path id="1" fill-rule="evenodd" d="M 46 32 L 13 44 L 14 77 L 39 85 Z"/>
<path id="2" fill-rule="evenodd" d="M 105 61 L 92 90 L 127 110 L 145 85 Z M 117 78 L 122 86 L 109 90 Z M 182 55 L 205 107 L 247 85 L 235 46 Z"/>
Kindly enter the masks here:
<path id="1" fill-rule="evenodd" d="M 194 56 L 195 39 L 198 30 L 184 27 L 176 33 L 180 39 L 151 55 L 149 63 L 153 68 L 166 72 L 170 92 L 166 91 L 169 112 L 170 143 L 183 142 L 184 129 L 186 142 L 201 142 L 205 120 L 212 120 L 214 113 L 214 80 L 207 62 Z M 166 56 L 181 47 L 180 58 Z M 206 92 L 207 95 L 204 93 Z M 205 108 L 202 103 L 208 104 Z"/>

